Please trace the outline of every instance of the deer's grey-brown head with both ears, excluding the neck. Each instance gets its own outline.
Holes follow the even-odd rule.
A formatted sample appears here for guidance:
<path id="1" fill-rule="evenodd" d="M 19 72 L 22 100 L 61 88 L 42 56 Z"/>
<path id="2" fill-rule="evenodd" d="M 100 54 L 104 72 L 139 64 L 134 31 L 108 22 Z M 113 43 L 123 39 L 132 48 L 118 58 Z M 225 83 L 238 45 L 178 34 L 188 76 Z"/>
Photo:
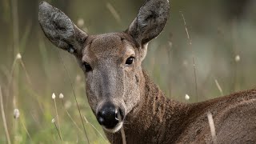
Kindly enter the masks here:
<path id="1" fill-rule="evenodd" d="M 147 0 L 127 30 L 88 35 L 61 10 L 40 3 L 38 19 L 44 34 L 77 58 L 90 107 L 105 130 L 118 131 L 126 115 L 138 106 L 147 43 L 161 33 L 169 10 L 168 0 Z"/>

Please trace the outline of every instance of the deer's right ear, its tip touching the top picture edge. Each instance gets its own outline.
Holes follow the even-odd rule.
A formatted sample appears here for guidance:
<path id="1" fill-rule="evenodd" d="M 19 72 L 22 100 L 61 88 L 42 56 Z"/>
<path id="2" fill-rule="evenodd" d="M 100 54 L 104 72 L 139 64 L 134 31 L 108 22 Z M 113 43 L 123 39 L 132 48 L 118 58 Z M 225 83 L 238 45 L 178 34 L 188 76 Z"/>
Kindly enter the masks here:
<path id="1" fill-rule="evenodd" d="M 168 0 L 146 0 L 126 32 L 143 46 L 161 33 L 166 26 L 169 12 Z"/>

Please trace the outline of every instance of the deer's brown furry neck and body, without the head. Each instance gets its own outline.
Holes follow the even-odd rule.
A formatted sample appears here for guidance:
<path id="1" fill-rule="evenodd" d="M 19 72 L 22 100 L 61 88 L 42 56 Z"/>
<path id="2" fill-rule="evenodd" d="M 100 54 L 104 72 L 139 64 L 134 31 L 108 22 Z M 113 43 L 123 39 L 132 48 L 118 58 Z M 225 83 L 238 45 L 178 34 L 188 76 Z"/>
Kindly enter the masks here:
<path id="1" fill-rule="evenodd" d="M 207 113 L 211 112 L 218 143 L 256 142 L 256 90 L 246 90 L 206 102 L 185 104 L 166 98 L 145 77 L 145 97 L 126 118 L 127 143 L 211 143 Z M 111 143 L 122 143 L 121 133 L 109 133 Z"/>

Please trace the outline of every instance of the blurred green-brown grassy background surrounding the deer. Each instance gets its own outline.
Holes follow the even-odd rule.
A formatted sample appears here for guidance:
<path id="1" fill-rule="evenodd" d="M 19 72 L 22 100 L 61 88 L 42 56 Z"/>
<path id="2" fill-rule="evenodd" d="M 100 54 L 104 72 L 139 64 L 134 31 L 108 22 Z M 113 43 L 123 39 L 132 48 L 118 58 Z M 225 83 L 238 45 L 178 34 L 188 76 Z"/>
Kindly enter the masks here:
<path id="1" fill-rule="evenodd" d="M 61 143 L 59 135 L 86 143 L 74 94 L 90 143 L 108 143 L 75 58 L 64 51 L 60 58 L 38 25 L 39 2 L 0 0 L 0 143 Z M 144 0 L 46 2 L 87 34 L 103 34 L 126 30 Z M 170 7 L 143 62 L 167 97 L 202 102 L 256 86 L 256 1 L 172 0 Z"/>

